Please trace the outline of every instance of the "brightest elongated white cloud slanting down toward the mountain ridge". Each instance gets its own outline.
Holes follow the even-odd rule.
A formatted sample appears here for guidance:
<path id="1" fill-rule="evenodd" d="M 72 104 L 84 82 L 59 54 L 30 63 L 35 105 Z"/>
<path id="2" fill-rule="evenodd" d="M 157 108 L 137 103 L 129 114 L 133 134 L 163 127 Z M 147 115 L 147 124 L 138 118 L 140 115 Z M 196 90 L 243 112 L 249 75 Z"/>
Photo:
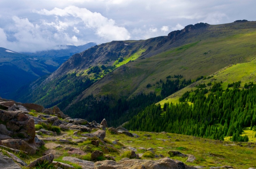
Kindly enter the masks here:
<path id="1" fill-rule="evenodd" d="M 86 8 L 68 6 L 64 9 L 54 8 L 51 11 L 43 9 L 34 11 L 41 15 L 55 15 L 60 17 L 75 17 L 83 21 L 86 28 L 93 29 L 95 34 L 106 40 L 128 40 L 130 33 L 124 28 L 117 26 L 113 19 L 108 19 L 98 12 L 91 12 Z M 62 23 L 63 25 L 63 23 Z"/>

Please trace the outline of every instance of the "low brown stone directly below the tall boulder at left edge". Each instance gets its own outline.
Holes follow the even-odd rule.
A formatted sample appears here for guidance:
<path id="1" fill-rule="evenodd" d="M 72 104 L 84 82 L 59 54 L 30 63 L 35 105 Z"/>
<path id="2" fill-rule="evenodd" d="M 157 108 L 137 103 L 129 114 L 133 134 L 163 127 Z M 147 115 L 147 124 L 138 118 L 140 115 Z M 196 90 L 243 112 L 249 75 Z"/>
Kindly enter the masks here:
<path id="1" fill-rule="evenodd" d="M 18 149 L 18 150 L 22 150 L 22 151 L 26 151 L 29 154 L 35 154 L 36 153 L 36 149 L 31 147 L 27 142 L 25 142 L 24 140 L 20 140 L 20 139 L 8 139 L 8 140 L 2 140 L 2 144 L 4 146 L 13 148 L 13 149 Z"/>

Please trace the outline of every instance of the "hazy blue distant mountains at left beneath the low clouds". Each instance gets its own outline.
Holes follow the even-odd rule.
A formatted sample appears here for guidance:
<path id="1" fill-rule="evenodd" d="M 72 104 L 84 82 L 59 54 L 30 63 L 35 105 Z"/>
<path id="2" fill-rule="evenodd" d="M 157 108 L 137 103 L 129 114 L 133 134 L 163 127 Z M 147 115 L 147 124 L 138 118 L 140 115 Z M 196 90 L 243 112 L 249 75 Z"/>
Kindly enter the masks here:
<path id="1" fill-rule="evenodd" d="M 15 97 L 15 92 L 12 95 L 13 91 L 52 73 L 74 53 L 95 45 L 88 43 L 83 46 L 61 46 L 61 50 L 26 54 L 0 47 L 0 95 L 5 98 Z"/>

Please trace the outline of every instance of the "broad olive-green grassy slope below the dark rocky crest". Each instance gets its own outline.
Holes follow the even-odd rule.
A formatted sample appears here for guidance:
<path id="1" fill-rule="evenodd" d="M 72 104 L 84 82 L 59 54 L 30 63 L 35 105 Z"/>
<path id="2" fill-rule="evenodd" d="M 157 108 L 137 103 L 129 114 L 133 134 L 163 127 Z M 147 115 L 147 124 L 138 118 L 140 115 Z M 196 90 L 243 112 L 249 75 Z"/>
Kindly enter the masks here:
<path id="1" fill-rule="evenodd" d="M 160 90 L 156 82 L 182 74 L 186 79 L 210 75 L 234 63 L 255 56 L 256 29 L 228 29 L 211 25 L 204 33 L 191 32 L 181 38 L 187 45 L 170 48 L 146 59 L 137 59 L 116 69 L 83 93 L 83 96 L 113 95 L 127 98 L 140 92 Z M 177 42 L 178 43 L 178 42 Z M 166 48 L 166 47 L 165 47 Z M 151 88 L 146 88 L 150 83 Z M 153 86 L 155 84 L 155 86 Z M 83 98 L 83 97 L 82 97 Z"/>

